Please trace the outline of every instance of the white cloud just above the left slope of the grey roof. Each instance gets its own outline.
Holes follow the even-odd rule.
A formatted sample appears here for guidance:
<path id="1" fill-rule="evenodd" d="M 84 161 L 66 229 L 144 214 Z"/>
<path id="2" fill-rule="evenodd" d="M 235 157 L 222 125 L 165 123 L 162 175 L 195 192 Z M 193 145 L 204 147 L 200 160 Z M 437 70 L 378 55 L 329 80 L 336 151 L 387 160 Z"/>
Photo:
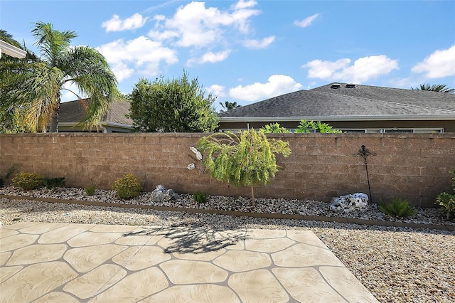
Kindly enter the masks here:
<path id="1" fill-rule="evenodd" d="M 301 88 L 300 83 L 287 75 L 271 75 L 267 83 L 238 85 L 229 90 L 232 98 L 245 101 L 256 101 L 294 92 Z"/>

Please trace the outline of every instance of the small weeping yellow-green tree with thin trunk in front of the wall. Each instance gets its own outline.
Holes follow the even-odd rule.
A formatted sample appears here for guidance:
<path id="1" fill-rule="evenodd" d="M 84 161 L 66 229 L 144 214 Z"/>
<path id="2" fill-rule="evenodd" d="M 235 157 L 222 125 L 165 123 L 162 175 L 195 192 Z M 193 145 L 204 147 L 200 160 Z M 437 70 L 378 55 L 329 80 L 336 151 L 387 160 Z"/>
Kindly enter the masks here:
<path id="1" fill-rule="evenodd" d="M 268 184 L 279 166 L 275 154 L 289 156 L 289 142 L 269 140 L 264 132 L 245 130 L 240 137 L 232 132 L 210 134 L 198 141 L 205 154 L 203 165 L 210 176 L 235 186 L 250 186 L 252 206 L 255 206 L 255 184 Z"/>

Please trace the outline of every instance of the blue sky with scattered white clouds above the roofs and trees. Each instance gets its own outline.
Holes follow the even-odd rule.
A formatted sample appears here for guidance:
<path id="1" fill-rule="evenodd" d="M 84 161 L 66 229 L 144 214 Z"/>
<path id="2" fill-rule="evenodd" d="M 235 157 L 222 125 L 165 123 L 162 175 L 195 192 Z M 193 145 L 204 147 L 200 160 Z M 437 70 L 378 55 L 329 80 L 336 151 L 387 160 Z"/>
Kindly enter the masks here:
<path id="1" fill-rule="evenodd" d="M 455 1 L 1 0 L 0 28 L 32 49 L 33 22 L 75 31 L 125 94 L 186 70 L 215 105 L 247 105 L 333 82 L 455 87 L 454 12 Z"/>

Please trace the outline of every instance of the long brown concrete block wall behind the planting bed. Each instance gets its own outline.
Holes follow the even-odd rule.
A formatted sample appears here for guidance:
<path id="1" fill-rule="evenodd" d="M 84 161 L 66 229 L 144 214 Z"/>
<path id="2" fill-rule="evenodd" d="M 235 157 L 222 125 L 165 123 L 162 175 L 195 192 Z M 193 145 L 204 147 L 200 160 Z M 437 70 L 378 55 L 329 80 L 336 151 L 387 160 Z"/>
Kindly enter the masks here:
<path id="1" fill-rule="evenodd" d="M 0 175 L 10 166 L 53 178 L 67 186 L 112 188 L 124 174 L 136 174 L 146 191 L 156 185 L 178 193 L 205 191 L 221 196 L 250 196 L 200 171 L 190 147 L 204 134 L 0 134 Z M 438 193 L 451 189 L 455 169 L 455 135 L 446 134 L 269 134 L 289 142 L 292 154 L 278 156 L 283 170 L 267 186 L 255 186 L 256 197 L 330 201 L 348 193 L 368 193 L 362 156 L 365 147 L 373 201 L 407 198 L 433 207 Z M 196 169 L 187 169 L 189 163 Z"/>

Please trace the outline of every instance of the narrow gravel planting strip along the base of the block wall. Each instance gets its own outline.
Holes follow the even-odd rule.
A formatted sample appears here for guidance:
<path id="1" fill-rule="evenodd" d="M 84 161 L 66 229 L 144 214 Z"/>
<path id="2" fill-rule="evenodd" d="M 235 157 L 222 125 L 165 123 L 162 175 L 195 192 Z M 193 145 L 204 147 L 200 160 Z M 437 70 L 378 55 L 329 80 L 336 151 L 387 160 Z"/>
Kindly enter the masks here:
<path id="1" fill-rule="evenodd" d="M 0 194 L 10 196 L 30 196 L 37 198 L 59 198 L 63 200 L 102 201 L 107 203 L 136 204 L 144 206 L 168 206 L 174 208 L 215 209 L 220 211 L 243 211 L 255 213 L 280 213 L 305 216 L 327 216 L 357 218 L 365 220 L 388 220 L 403 223 L 422 223 L 438 225 L 455 225 L 454 221 L 444 220 L 444 214 L 438 208 L 417 208 L 417 214 L 410 218 L 396 218 L 382 213 L 374 203 L 362 210 L 343 213 L 331 211 L 330 203 L 310 200 L 289 200 L 283 198 L 256 198 L 255 207 L 251 199 L 245 197 L 208 196 L 206 203 L 198 203 L 189 194 L 178 194 L 170 201 L 154 202 L 151 193 L 143 192 L 138 198 L 122 200 L 115 196 L 115 191 L 97 189 L 95 195 L 88 196 L 84 188 L 40 188 L 34 191 L 23 191 L 13 186 L 0 188 Z"/>

